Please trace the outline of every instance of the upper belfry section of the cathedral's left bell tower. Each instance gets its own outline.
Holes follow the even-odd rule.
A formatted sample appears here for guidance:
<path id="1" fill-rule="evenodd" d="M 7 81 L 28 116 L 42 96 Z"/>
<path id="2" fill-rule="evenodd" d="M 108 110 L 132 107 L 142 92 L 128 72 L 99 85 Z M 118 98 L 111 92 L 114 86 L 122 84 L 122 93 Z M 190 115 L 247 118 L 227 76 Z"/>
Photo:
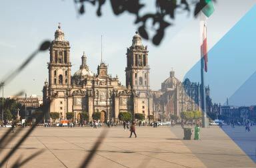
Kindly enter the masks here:
<path id="1" fill-rule="evenodd" d="M 67 88 L 71 84 L 71 62 L 69 62 L 70 46 L 65 41 L 64 32 L 59 24 L 55 31 L 55 39 L 50 46 L 49 87 Z"/>

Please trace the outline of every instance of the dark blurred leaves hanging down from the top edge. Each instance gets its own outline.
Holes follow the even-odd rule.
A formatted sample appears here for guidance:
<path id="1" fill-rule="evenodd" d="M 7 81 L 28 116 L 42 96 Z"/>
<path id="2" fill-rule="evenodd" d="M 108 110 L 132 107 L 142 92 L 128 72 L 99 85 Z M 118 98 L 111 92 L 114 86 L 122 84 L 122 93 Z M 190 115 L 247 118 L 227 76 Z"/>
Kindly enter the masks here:
<path id="1" fill-rule="evenodd" d="M 197 14 L 211 1 L 215 0 L 155 0 L 155 11 L 151 13 L 141 14 L 141 9 L 146 6 L 145 1 L 142 0 L 109 0 L 111 8 L 115 15 L 121 15 L 128 12 L 135 15 L 135 24 L 139 26 L 139 35 L 144 39 L 151 40 L 153 44 L 159 45 L 165 35 L 165 29 L 173 25 L 173 20 L 179 12 L 191 13 L 196 17 Z M 97 16 L 101 16 L 101 8 L 106 0 L 75 0 L 77 5 L 77 12 L 80 15 L 85 13 L 85 4 L 90 3 L 93 6 L 97 5 Z M 155 35 L 149 37 L 147 31 L 151 27 L 147 27 L 146 23 L 153 21 L 151 27 L 155 28 Z"/>

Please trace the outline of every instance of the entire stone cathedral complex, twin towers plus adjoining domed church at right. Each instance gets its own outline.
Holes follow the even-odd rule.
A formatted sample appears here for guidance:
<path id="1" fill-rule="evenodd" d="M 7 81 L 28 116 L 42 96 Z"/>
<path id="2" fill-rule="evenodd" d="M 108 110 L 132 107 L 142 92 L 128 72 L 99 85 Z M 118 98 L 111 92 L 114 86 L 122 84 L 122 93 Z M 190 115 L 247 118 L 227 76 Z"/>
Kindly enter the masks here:
<path id="1" fill-rule="evenodd" d="M 101 112 L 101 122 L 118 122 L 120 112 L 131 112 L 133 117 L 136 113 L 143 114 L 146 120 L 149 115 L 153 115 L 154 120 L 169 120 L 171 114 L 179 116 L 183 111 L 200 110 L 199 84 L 189 80 L 180 82 L 173 70 L 161 84 L 161 90 L 150 89 L 149 51 L 137 33 L 127 48 L 125 86 L 117 76 L 108 74 L 105 62 L 99 62 L 97 74 L 93 74 L 85 52 L 79 70 L 72 75 L 70 49 L 59 26 L 49 49 L 49 81 L 43 86 L 43 103 L 49 104 L 47 120 L 51 112 L 59 112 L 59 120 L 66 120 L 66 113 L 73 112 L 77 122 L 81 112 L 89 114 L 89 121 L 93 120 L 94 112 Z M 209 96 L 209 87 L 206 93 Z"/>

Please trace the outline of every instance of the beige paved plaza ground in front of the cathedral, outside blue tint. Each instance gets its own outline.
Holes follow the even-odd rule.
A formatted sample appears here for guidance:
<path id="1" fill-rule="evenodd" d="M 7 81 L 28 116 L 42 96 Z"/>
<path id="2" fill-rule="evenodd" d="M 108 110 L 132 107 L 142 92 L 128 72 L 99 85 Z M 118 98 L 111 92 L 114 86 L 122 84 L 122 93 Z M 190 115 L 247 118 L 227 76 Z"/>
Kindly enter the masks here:
<path id="1" fill-rule="evenodd" d="M 0 160 L 29 128 L 1 146 Z M 0 128 L 0 136 L 7 128 Z M 88 167 L 256 167 L 219 127 L 201 129 L 201 140 L 183 140 L 181 126 L 138 127 L 129 138 L 123 127 L 37 127 L 5 163 L 31 158 L 23 167 L 79 167 L 101 131 L 107 131 Z M 41 152 L 39 155 L 35 153 Z"/>

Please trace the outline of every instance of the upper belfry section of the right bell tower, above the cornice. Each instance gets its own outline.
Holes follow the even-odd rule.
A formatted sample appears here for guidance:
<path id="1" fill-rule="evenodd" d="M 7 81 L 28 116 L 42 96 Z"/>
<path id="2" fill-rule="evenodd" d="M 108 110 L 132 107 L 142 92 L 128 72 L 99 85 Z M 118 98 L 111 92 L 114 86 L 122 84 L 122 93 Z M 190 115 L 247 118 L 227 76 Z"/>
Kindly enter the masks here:
<path id="1" fill-rule="evenodd" d="M 150 90 L 149 88 L 149 64 L 147 46 L 141 43 L 141 37 L 136 32 L 133 36 L 133 44 L 127 48 L 126 86 L 140 91 Z"/>

